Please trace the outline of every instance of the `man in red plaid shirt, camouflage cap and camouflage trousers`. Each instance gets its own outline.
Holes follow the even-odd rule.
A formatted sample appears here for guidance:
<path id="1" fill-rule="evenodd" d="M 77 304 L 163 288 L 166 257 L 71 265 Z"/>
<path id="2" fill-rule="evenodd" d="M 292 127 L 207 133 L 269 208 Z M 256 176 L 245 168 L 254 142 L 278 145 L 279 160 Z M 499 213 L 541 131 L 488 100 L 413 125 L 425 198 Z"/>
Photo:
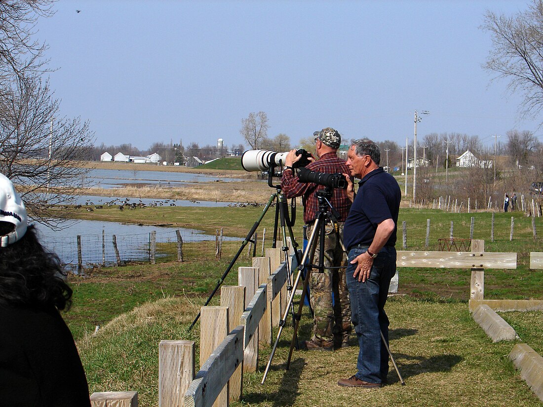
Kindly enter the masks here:
<path id="1" fill-rule="evenodd" d="M 337 156 L 341 144 L 341 136 L 332 128 L 315 131 L 315 149 L 318 161 L 312 160 L 306 166 L 308 170 L 329 174 L 349 174 L 345 161 Z M 301 156 L 296 156 L 296 150 L 289 152 L 285 158 L 285 170 L 281 179 L 281 189 L 286 198 L 303 196 L 304 221 L 307 236 L 311 236 L 312 228 L 319 212 L 317 192 L 324 190 L 323 185 L 312 182 L 300 182 L 294 174 L 293 164 Z M 349 214 L 351 201 L 344 189 L 334 188 L 330 199 L 332 206 L 339 212 L 339 236 L 343 240 L 343 223 Z M 326 224 L 324 248 L 324 273 L 311 274 L 311 305 L 314 311 L 313 336 L 305 341 L 308 350 L 331 351 L 334 346 L 348 346 L 351 333 L 351 309 L 349 291 L 346 287 L 345 267 L 347 257 L 337 240 L 331 222 Z M 314 259 L 319 258 L 319 246 L 315 250 Z M 315 261 L 313 261 L 315 263 Z M 331 269 L 332 268 L 332 269 Z M 333 301 L 332 301 L 333 292 Z"/>

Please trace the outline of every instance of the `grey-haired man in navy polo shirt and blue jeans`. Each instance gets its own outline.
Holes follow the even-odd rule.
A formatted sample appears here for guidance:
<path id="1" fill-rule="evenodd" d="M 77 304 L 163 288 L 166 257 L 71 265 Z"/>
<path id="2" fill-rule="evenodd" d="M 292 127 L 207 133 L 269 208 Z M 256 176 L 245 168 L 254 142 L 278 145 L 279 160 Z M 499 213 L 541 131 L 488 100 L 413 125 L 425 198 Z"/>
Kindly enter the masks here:
<path id="1" fill-rule="evenodd" d="M 349 251 L 346 271 L 351 298 L 352 323 L 358 345 L 358 372 L 338 385 L 345 387 L 381 387 L 387 380 L 388 317 L 384 312 L 390 279 L 396 271 L 396 224 L 400 210 L 400 186 L 394 177 L 379 167 L 381 153 L 369 139 L 352 142 L 345 174 L 347 193 L 353 201 L 343 228 L 344 244 Z M 351 179 L 361 179 L 354 194 Z"/>

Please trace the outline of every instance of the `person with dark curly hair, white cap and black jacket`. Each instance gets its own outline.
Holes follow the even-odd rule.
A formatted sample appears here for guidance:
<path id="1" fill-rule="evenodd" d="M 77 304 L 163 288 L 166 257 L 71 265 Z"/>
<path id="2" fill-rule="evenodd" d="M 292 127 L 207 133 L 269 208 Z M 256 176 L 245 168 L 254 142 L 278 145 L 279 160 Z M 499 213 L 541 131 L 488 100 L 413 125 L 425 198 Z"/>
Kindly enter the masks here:
<path id="1" fill-rule="evenodd" d="M 59 310 L 72 289 L 46 251 L 11 181 L 0 174 L 0 400 L 9 406 L 90 406 L 73 336 Z"/>

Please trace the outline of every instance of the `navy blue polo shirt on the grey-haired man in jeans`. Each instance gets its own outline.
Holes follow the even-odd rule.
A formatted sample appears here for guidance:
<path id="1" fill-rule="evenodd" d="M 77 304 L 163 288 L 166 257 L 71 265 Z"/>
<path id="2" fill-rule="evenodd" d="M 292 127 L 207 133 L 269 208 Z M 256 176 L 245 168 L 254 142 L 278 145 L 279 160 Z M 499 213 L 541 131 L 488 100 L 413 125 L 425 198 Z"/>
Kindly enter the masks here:
<path id="1" fill-rule="evenodd" d="M 355 201 L 343 226 L 345 248 L 369 246 L 377 225 L 391 218 L 395 227 L 386 245 L 394 246 L 401 200 L 400 186 L 392 175 L 384 172 L 383 167 L 366 174 L 358 186 Z"/>

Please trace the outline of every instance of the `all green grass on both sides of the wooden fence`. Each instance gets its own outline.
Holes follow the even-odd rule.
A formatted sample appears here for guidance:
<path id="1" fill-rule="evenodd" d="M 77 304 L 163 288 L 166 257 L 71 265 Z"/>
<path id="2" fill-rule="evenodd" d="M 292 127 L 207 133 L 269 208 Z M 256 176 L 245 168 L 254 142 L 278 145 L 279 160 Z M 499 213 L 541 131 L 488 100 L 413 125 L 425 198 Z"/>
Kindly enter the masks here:
<path id="1" fill-rule="evenodd" d="M 141 221 L 190 224 L 212 233 L 223 227 L 225 234 L 238 237 L 245 237 L 262 213 L 262 207 L 152 209 L 140 212 L 144 215 Z M 127 214 L 119 212 L 100 211 L 98 215 L 123 221 Z M 261 236 L 262 228 L 267 228 L 268 247 L 273 212 L 270 209 L 258 230 Z M 541 251 L 543 218 L 535 218 L 539 237 L 534 240 L 531 218 L 513 213 L 515 230 L 510 241 L 512 214 L 496 213 L 491 241 L 490 213 L 402 209 L 396 247 L 403 250 L 403 220 L 407 222 L 407 250 L 426 250 L 426 219 L 431 219 L 427 250 L 438 250 L 437 239 L 449 237 L 451 221 L 454 237 L 469 238 L 471 216 L 475 217 L 473 238 L 485 240 L 485 251 L 518 253 L 516 270 L 485 270 L 485 298 L 543 299 L 543 273 L 528 269 L 529 252 Z M 296 237 L 301 231 L 300 208 L 298 219 Z M 72 278 L 74 306 L 64 316 L 78 340 L 91 391 L 137 390 L 142 405 L 157 405 L 159 341 L 188 339 L 198 346 L 198 326 L 190 333 L 187 327 L 241 243 L 223 245 L 219 261 L 213 250 L 204 250 L 203 245 L 184 244 L 186 262 L 177 263 L 172 261 L 175 245 L 160 244 L 159 249 L 170 257 L 161 258 L 156 265 L 132 264 L 94 270 L 88 278 Z M 260 251 L 260 243 L 258 248 Z M 245 252 L 225 284 L 235 285 L 237 267 L 249 265 Z M 400 269 L 399 292 L 405 296 L 391 298 L 387 313 L 391 320 L 390 346 L 407 386 L 399 385 L 391 366 L 390 385 L 383 389 L 360 392 L 339 388 L 336 381 L 355 372 L 356 346 L 333 353 L 295 351 L 291 369 L 286 371 L 284 363 L 292 338 L 287 323 L 266 383 L 260 385 L 268 347 L 261 351 L 260 372 L 244 376 L 243 402 L 232 405 L 352 405 L 359 404 L 361 397 L 365 405 L 383 406 L 502 406 L 504 400 L 519 406 L 540 405 L 507 359 L 513 343 L 493 344 L 470 316 L 470 275 L 470 270 L 464 269 Z M 217 303 L 218 294 L 212 304 Z M 517 330 L 522 342 L 543 353 L 541 313 L 501 315 Z M 103 329 L 93 336 L 96 325 Z M 310 330 L 311 321 L 304 315 L 300 338 L 307 339 Z"/>

